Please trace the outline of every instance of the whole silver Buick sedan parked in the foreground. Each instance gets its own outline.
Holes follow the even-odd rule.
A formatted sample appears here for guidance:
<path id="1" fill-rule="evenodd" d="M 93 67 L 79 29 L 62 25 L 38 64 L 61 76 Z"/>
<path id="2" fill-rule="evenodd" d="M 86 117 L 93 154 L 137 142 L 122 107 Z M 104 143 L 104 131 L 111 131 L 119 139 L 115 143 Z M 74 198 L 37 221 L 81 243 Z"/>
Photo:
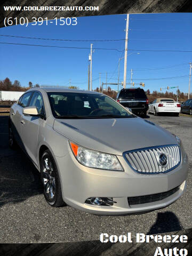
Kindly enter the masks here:
<path id="1" fill-rule="evenodd" d="M 181 140 L 102 93 L 33 88 L 10 110 L 9 145 L 41 172 L 46 202 L 94 214 L 165 207 L 186 188 Z"/>

